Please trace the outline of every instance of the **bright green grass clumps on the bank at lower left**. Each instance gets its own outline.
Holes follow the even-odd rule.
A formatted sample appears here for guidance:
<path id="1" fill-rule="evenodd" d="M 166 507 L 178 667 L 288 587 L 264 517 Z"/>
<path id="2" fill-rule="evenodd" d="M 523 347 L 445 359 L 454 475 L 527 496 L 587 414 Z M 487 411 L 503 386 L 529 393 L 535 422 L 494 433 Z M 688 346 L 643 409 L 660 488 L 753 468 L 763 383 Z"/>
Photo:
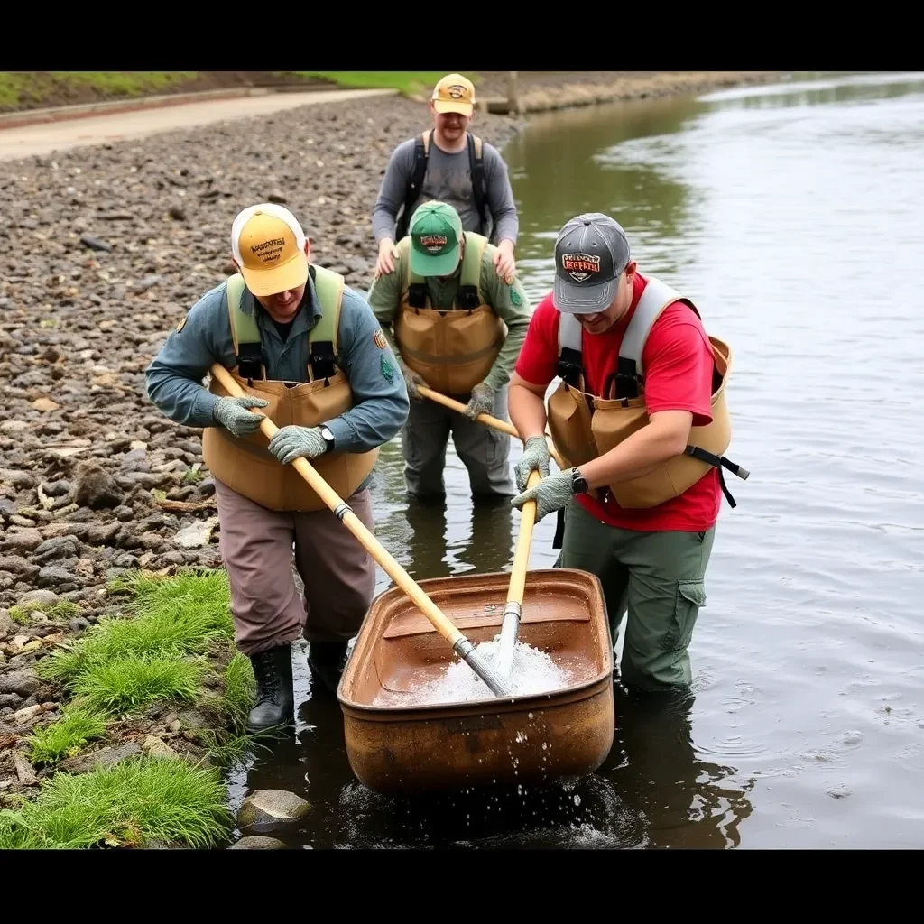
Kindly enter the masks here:
<path id="1" fill-rule="evenodd" d="M 217 767 L 196 759 L 144 757 L 72 776 L 57 772 L 38 796 L 0 811 L 0 849 L 138 846 L 151 840 L 208 847 L 233 826 L 220 768 L 265 747 L 246 734 L 256 684 L 234 644 L 230 590 L 221 569 L 174 577 L 140 572 L 110 583 L 125 614 L 91 626 L 36 671 L 70 701 L 57 722 L 36 729 L 30 760 L 54 766 L 105 738 L 120 740 L 120 716 L 151 706 L 192 705 L 217 727 L 195 736 Z M 191 738 L 189 739 L 192 740 Z"/>

